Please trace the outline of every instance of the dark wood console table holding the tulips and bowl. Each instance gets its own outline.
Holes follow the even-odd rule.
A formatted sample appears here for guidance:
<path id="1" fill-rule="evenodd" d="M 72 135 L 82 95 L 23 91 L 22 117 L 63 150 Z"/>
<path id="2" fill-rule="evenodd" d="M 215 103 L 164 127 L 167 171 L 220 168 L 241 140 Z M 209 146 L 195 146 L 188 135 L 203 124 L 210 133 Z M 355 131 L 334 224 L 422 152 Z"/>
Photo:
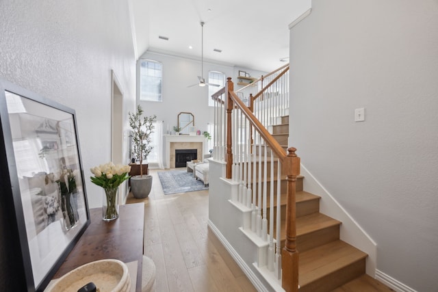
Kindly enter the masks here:
<path id="1" fill-rule="evenodd" d="M 136 291 L 142 291 L 144 203 L 120 206 L 119 217 L 105 222 L 102 209 L 90 209 L 91 224 L 68 254 L 53 278 L 92 261 L 114 258 L 137 261 Z M 134 284 L 134 283 L 132 283 Z"/>

